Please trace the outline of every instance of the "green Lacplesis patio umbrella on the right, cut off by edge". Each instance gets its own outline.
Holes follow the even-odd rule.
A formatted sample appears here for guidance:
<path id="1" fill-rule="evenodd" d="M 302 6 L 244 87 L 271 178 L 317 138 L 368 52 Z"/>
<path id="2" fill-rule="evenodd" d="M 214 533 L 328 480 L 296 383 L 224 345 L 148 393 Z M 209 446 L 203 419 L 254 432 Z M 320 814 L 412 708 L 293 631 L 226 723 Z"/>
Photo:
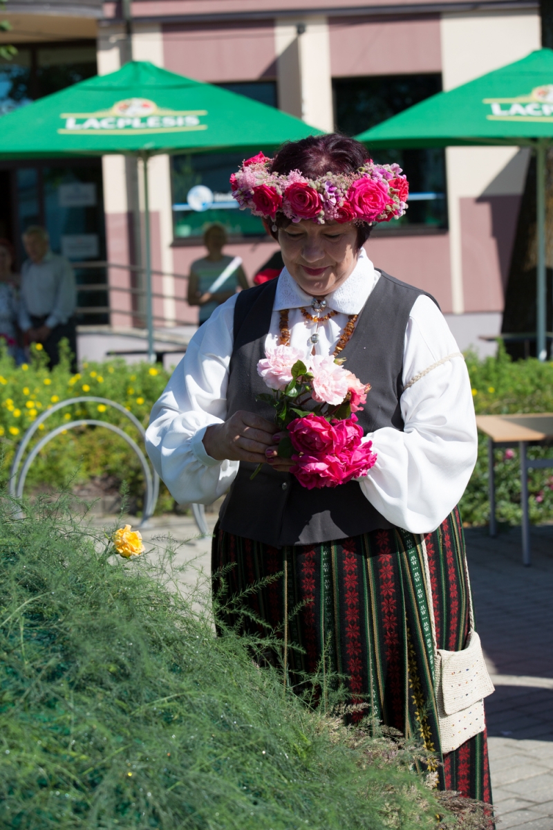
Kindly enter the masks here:
<path id="1" fill-rule="evenodd" d="M 439 92 L 356 136 L 372 149 L 516 144 L 537 158 L 537 354 L 546 359 L 546 152 L 553 144 L 553 51 L 539 49 Z"/>

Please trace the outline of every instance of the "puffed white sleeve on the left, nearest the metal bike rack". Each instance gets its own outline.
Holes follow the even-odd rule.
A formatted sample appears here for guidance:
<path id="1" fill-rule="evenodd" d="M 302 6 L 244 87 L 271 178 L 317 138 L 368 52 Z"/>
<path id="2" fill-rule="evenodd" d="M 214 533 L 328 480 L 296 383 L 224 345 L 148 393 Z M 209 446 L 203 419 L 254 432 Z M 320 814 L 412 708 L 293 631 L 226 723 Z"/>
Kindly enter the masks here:
<path id="1" fill-rule="evenodd" d="M 216 461 L 202 443 L 206 428 L 226 418 L 236 296 L 196 331 L 150 415 L 148 456 L 179 504 L 210 505 L 238 471 L 239 461 Z"/>

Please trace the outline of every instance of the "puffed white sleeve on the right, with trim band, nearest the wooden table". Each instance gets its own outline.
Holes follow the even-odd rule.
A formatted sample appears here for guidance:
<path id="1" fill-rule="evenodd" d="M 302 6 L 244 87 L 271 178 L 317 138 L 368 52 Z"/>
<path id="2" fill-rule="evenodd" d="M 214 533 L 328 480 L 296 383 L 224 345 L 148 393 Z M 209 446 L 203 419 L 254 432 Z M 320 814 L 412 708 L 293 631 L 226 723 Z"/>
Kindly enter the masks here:
<path id="1" fill-rule="evenodd" d="M 420 296 L 405 331 L 404 386 L 458 351 L 438 307 Z M 463 357 L 446 359 L 416 379 L 405 388 L 400 406 L 404 432 L 385 427 L 366 436 L 378 458 L 369 476 L 358 481 L 387 520 L 411 533 L 430 533 L 463 496 L 478 453 Z"/>

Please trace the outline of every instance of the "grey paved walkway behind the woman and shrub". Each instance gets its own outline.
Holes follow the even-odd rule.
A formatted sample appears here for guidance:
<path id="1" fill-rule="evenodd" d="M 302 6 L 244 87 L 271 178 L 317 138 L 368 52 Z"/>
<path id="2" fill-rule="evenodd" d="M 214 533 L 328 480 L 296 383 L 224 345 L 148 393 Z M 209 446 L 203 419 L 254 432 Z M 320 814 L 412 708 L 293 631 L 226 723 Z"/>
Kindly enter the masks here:
<path id="1" fill-rule="evenodd" d="M 215 520 L 207 515 L 210 529 Z M 187 583 L 210 573 L 211 538 L 198 538 L 192 517 L 154 518 L 143 537 L 163 547 L 167 533 L 183 543 L 176 563 L 193 562 Z M 553 830 L 553 526 L 532 529 L 531 568 L 521 564 L 518 529 L 493 540 L 470 529 L 466 538 L 478 632 L 496 686 L 487 720 L 498 830 Z"/>

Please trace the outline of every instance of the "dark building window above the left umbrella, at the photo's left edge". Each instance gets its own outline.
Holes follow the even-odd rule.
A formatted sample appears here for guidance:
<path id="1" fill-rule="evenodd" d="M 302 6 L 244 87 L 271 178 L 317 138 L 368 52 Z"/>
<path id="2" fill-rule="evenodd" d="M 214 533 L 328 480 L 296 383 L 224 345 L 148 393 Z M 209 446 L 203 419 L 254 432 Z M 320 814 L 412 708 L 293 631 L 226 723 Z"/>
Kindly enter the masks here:
<path id="1" fill-rule="evenodd" d="M 17 46 L 0 58 L 0 115 L 96 75 L 94 41 Z"/>

